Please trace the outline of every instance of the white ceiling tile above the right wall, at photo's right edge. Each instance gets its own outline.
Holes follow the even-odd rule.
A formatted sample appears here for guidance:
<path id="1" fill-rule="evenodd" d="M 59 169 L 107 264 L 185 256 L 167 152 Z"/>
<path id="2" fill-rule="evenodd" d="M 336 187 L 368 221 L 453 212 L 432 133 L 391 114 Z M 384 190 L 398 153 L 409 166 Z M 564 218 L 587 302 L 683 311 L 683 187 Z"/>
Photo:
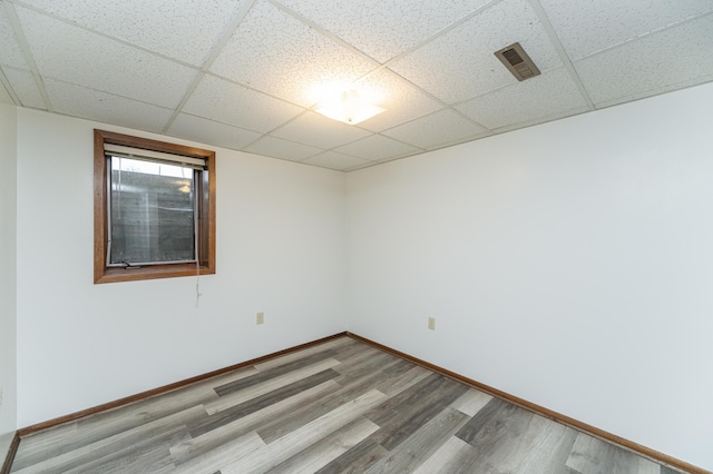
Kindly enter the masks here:
<path id="1" fill-rule="evenodd" d="M 713 14 L 575 62 L 598 107 L 709 80 L 713 75 Z"/>

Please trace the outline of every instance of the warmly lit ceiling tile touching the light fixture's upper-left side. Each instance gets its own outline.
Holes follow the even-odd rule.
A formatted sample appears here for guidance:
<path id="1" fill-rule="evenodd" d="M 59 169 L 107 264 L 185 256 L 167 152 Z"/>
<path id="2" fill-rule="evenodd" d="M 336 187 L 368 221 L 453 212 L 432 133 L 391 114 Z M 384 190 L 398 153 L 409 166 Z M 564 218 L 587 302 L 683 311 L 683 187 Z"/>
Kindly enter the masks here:
<path id="1" fill-rule="evenodd" d="M 374 67 L 271 3 L 257 0 L 211 71 L 311 107 L 323 99 L 325 91 L 343 89 Z"/>

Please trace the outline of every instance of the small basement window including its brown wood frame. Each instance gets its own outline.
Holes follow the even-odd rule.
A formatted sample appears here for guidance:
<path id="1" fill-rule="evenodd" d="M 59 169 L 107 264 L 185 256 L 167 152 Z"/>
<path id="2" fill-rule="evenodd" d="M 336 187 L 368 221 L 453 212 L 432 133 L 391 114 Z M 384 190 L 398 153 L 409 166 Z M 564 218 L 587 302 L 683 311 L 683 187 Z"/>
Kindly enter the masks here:
<path id="1" fill-rule="evenodd" d="M 95 283 L 215 273 L 215 152 L 95 130 Z"/>

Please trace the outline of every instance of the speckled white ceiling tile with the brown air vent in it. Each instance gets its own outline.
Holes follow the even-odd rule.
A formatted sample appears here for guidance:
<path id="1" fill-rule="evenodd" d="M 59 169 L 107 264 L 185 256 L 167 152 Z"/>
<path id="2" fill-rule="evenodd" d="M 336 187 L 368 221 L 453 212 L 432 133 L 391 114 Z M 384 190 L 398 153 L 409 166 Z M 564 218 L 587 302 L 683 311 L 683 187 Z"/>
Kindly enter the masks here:
<path id="1" fill-rule="evenodd" d="M 445 102 L 456 103 L 517 82 L 494 56 L 516 41 L 540 70 L 563 66 L 529 3 L 504 0 L 389 68 Z"/>

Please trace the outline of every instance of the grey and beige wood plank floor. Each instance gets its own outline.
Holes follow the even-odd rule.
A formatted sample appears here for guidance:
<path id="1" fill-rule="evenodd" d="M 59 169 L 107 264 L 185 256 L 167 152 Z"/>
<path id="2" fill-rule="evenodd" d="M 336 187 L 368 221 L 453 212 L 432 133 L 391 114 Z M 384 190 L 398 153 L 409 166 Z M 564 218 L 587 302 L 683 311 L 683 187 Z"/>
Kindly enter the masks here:
<path id="1" fill-rule="evenodd" d="M 349 337 L 23 437 L 11 472 L 678 473 Z"/>

